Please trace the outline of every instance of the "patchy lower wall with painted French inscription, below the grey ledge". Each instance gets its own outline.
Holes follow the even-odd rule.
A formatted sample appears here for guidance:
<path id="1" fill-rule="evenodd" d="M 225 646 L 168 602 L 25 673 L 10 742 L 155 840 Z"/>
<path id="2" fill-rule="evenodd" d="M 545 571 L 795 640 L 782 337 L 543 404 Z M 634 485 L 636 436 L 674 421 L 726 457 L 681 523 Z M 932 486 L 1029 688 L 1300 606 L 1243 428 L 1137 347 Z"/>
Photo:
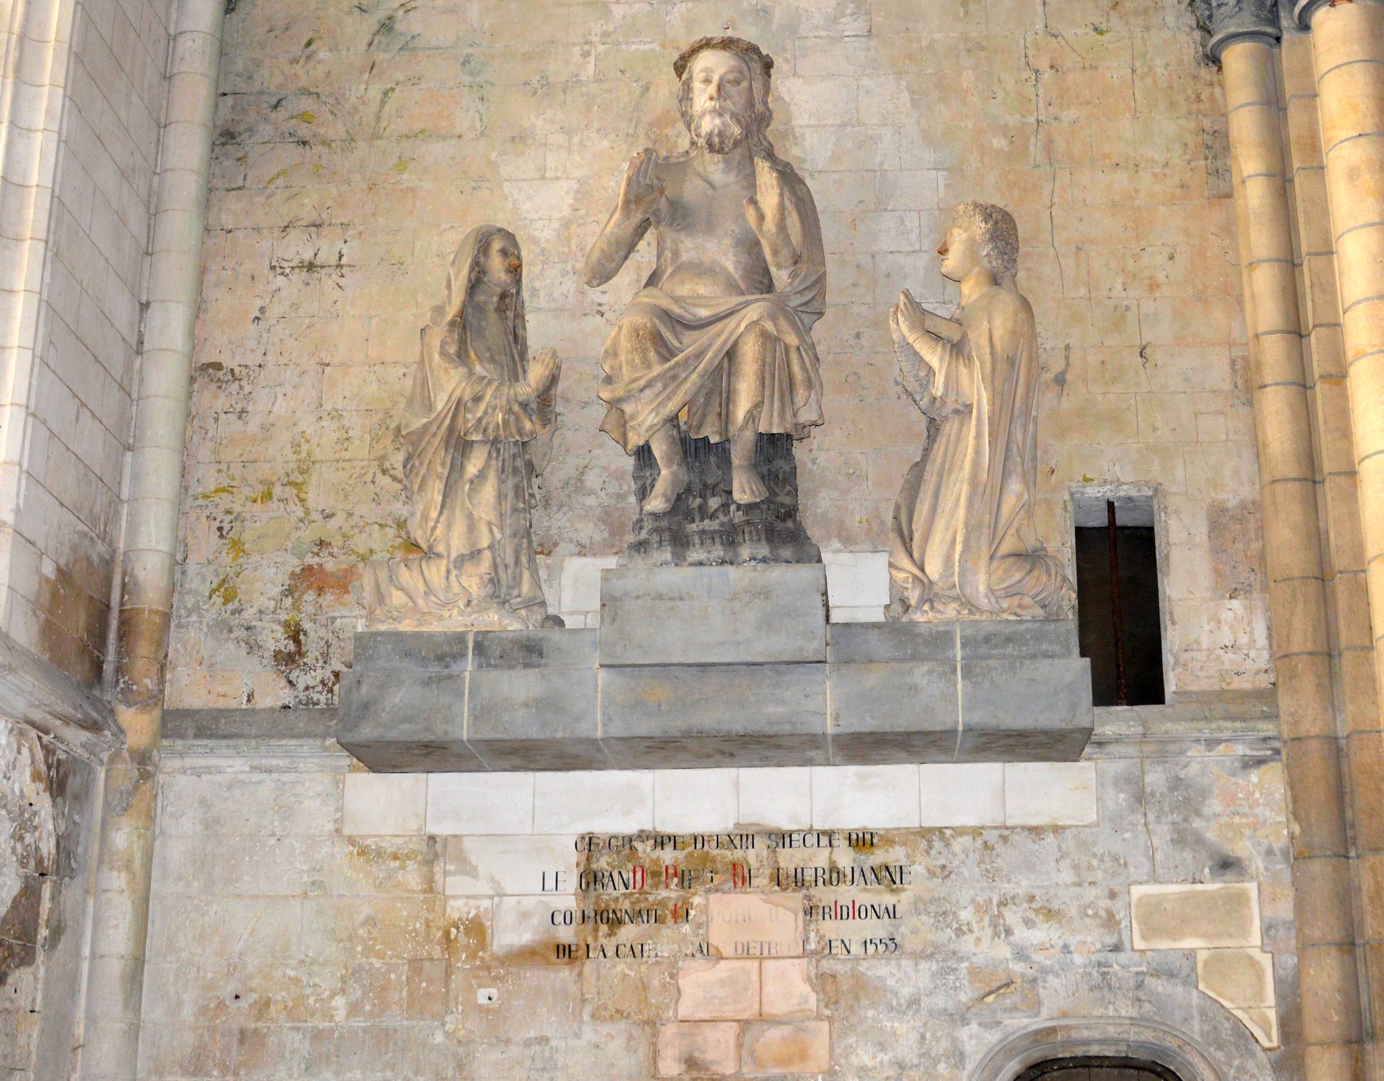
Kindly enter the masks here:
<path id="1" fill-rule="evenodd" d="M 284 750 L 166 752 L 151 1081 L 644 1081 L 767 1063 L 960 1081 L 1052 1017 L 1145 1019 L 1223 1077 L 1300 1075 L 1272 736 L 1107 739 L 1095 761 L 1037 767 L 597 776 L 367 775 L 339 752 Z M 853 868 L 895 880 L 801 884 Z M 1154 901 L 1136 940 L 1131 886 L 1149 883 L 1237 884 L 1200 894 L 1200 919 L 1158 926 Z M 880 908 L 844 919 L 851 902 Z M 1199 956 L 1203 934 L 1241 948 Z M 1276 1016 L 1284 1051 L 1199 990 L 1244 994 L 1214 970 L 1255 959 L 1279 1009 L 1248 1016 Z"/>

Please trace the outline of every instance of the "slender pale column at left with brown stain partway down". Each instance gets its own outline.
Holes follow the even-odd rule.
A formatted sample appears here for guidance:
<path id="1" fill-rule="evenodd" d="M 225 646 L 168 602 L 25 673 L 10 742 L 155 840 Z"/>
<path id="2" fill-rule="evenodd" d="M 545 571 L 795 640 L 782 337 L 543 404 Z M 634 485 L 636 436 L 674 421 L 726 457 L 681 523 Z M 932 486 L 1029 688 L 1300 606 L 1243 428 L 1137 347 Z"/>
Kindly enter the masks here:
<path id="1" fill-rule="evenodd" d="M 155 767 L 224 14 L 226 0 L 176 7 L 116 644 L 115 716 L 126 746 L 105 771 L 83 1078 L 133 1081 L 138 1067 Z"/>

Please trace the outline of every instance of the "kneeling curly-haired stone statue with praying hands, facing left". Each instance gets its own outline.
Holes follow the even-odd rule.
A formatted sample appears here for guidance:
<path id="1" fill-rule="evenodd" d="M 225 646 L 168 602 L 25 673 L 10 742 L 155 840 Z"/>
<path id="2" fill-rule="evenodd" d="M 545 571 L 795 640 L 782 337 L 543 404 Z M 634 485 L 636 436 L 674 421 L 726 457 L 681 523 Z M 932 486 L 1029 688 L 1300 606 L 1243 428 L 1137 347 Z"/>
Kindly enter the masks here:
<path id="1" fill-rule="evenodd" d="M 954 317 L 907 291 L 890 311 L 904 386 L 931 437 L 894 505 L 886 616 L 1066 616 L 1075 592 L 1032 520 L 1038 334 L 1014 287 L 1019 228 L 1003 208 L 967 202 L 937 253 L 960 282 Z"/>

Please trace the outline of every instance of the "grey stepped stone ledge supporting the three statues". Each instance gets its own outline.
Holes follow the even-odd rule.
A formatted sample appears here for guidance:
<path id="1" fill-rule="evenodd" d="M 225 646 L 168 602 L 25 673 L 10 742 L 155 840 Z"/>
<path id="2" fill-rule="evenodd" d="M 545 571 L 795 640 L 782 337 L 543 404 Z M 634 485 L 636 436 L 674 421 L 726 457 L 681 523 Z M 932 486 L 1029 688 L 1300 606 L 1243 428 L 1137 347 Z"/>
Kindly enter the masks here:
<path id="1" fill-rule="evenodd" d="M 1070 761 L 1091 732 L 1075 620 L 828 624 L 799 565 L 608 570 L 599 630 L 360 633 L 336 739 L 388 772 Z"/>

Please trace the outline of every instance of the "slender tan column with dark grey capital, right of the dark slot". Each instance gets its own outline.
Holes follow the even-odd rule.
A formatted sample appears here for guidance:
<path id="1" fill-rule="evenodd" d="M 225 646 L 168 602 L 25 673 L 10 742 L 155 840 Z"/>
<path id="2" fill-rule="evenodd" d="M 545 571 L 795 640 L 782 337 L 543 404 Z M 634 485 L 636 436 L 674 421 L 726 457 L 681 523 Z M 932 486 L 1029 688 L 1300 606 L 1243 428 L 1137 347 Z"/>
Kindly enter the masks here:
<path id="1" fill-rule="evenodd" d="M 1360 1077 L 1351 861 L 1331 678 L 1316 461 L 1284 179 L 1272 0 L 1218 4 L 1244 280 L 1265 562 L 1287 771 L 1293 893 L 1309 1081 Z"/>

